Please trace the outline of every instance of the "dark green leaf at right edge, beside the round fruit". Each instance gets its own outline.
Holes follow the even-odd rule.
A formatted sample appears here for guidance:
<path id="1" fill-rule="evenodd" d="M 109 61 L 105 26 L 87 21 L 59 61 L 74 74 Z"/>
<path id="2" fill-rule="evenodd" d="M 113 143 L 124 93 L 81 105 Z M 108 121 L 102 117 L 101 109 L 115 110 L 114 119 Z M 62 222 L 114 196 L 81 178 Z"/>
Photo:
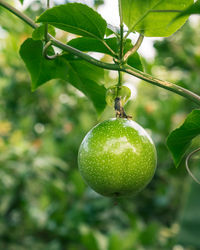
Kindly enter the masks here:
<path id="1" fill-rule="evenodd" d="M 179 165 L 192 139 L 200 135 L 200 110 L 193 110 L 182 126 L 175 129 L 167 138 L 167 146 L 171 151 L 176 167 Z"/>

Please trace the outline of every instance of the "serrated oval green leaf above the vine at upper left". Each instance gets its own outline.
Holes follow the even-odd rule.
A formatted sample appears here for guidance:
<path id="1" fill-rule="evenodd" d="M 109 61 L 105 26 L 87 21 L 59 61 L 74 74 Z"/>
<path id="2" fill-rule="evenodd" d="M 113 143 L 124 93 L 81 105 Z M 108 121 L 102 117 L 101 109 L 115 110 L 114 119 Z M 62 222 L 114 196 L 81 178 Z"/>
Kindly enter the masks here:
<path id="1" fill-rule="evenodd" d="M 85 4 L 68 3 L 46 10 L 37 22 L 48 22 L 67 32 L 93 38 L 103 38 L 106 21 Z"/>

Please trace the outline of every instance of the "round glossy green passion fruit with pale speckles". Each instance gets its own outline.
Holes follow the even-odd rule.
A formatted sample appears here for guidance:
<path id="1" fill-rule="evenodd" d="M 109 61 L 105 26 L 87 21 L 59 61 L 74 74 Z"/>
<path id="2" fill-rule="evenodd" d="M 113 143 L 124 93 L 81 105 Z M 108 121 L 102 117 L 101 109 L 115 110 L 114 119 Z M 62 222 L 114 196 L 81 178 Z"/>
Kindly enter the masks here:
<path id="1" fill-rule="evenodd" d="M 118 118 L 93 127 L 83 139 L 78 166 L 86 183 L 110 197 L 132 196 L 152 179 L 156 149 L 136 122 Z"/>

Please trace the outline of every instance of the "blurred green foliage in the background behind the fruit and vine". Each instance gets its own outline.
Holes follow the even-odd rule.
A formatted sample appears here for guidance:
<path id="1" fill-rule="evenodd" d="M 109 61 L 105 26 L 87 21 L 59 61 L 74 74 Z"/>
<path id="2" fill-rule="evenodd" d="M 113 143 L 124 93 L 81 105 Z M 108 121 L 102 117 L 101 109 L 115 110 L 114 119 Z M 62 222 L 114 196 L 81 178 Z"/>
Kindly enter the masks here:
<path id="1" fill-rule="evenodd" d="M 101 4 L 94 1 L 96 8 Z M 35 18 L 43 8 L 34 1 L 25 12 Z M 154 60 L 143 58 L 146 71 L 200 94 L 199 28 L 197 18 L 172 37 L 155 41 Z M 124 76 L 135 86 L 127 113 L 153 137 L 158 168 L 145 190 L 116 204 L 85 185 L 77 169 L 84 135 L 114 112 L 107 108 L 97 117 L 82 93 L 59 80 L 31 92 L 18 53 L 31 33 L 0 9 L 0 249 L 200 249 L 199 186 L 184 162 L 174 168 L 165 144 L 195 105 Z M 115 81 L 115 75 L 107 77 Z M 198 143 L 199 138 L 192 147 Z M 197 157 L 192 169 L 198 165 Z"/>

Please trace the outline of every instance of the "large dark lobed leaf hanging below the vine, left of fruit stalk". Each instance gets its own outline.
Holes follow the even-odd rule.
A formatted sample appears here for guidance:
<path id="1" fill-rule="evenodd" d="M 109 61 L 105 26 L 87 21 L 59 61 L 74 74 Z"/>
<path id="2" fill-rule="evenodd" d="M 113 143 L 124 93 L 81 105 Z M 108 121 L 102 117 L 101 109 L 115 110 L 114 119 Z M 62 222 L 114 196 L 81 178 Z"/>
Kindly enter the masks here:
<path id="1" fill-rule="evenodd" d="M 47 60 L 43 57 L 42 50 L 42 41 L 34 41 L 31 38 L 27 39 L 20 49 L 20 55 L 31 75 L 32 90 L 51 79 L 66 80 L 82 91 L 100 114 L 106 106 L 106 89 L 101 85 L 104 70 L 67 54 Z"/>

